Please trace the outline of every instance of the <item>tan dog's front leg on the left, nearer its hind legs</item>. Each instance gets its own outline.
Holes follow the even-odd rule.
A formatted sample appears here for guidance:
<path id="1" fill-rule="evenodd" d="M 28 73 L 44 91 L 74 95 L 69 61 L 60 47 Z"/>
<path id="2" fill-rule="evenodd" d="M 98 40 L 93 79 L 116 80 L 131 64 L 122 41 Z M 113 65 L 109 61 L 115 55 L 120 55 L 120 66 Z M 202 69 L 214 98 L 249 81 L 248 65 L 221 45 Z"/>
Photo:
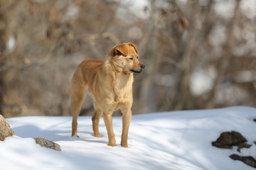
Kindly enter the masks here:
<path id="1" fill-rule="evenodd" d="M 108 145 L 111 147 L 116 146 L 116 140 L 114 137 L 113 123 L 112 123 L 112 113 L 103 113 L 103 119 L 107 128 L 107 136 L 109 138 Z"/>

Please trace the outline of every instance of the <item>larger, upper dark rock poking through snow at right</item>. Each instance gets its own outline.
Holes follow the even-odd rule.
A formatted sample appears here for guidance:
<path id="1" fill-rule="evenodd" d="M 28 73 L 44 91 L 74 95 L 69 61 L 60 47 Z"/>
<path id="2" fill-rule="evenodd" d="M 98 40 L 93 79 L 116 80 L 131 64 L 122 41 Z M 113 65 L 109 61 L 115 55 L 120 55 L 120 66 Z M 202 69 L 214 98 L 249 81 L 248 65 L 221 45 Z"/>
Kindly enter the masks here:
<path id="1" fill-rule="evenodd" d="M 245 137 L 243 137 L 239 132 L 223 132 L 220 137 L 215 142 L 212 142 L 214 147 L 231 149 L 233 146 L 240 145 L 247 142 Z"/>

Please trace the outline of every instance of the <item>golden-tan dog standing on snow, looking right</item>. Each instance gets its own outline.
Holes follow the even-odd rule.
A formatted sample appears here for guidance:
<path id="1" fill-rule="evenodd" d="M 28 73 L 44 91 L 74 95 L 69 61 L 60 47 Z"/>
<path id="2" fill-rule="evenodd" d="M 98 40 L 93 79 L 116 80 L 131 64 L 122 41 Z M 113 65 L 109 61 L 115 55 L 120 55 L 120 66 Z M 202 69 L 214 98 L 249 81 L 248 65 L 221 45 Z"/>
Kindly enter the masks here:
<path id="1" fill-rule="evenodd" d="M 72 136 L 78 135 L 78 115 L 86 91 L 90 91 L 95 108 L 92 115 L 93 135 L 101 137 L 99 122 L 103 116 L 107 128 L 108 145 L 116 146 L 112 113 L 120 109 L 122 112 L 121 146 L 128 147 L 134 73 L 140 73 L 145 68 L 138 57 L 137 45 L 127 42 L 112 47 L 105 60 L 86 59 L 80 63 L 71 80 Z"/>

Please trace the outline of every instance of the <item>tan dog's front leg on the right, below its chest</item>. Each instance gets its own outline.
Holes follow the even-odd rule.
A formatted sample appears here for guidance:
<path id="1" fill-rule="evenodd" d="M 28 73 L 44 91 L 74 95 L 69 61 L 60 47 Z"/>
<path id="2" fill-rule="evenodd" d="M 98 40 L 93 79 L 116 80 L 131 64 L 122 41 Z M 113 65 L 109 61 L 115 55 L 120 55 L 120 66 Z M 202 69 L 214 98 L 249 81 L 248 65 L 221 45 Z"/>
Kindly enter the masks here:
<path id="1" fill-rule="evenodd" d="M 122 138 L 121 138 L 121 146 L 128 147 L 128 131 L 129 131 L 129 124 L 131 123 L 132 119 L 132 111 L 129 110 L 122 110 Z"/>

